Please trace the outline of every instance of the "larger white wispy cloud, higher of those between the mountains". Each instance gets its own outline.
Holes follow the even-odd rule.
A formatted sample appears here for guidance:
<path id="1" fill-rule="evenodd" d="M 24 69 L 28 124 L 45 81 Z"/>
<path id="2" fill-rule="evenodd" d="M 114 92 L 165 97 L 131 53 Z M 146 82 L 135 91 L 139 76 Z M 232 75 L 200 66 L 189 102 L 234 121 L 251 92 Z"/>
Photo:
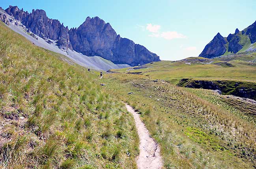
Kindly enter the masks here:
<path id="1" fill-rule="evenodd" d="M 149 37 L 155 37 L 155 38 L 164 38 L 167 40 L 171 40 L 171 39 L 181 39 L 181 38 L 186 38 L 185 35 L 178 33 L 176 31 L 164 31 L 161 32 L 161 26 L 160 25 L 153 25 L 153 24 L 147 24 L 147 26 L 139 26 L 137 25 L 139 28 L 142 28 L 142 30 L 146 30 L 151 32 L 150 35 L 148 35 Z"/>

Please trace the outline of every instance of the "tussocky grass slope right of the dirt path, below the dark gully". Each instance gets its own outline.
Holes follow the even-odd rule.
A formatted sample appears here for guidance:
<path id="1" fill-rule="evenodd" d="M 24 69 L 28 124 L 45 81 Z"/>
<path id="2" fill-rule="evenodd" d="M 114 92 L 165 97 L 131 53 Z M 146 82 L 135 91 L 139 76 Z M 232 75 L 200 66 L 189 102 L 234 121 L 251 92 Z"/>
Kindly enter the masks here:
<path id="1" fill-rule="evenodd" d="M 255 103 L 144 75 L 111 73 L 102 81 L 141 114 L 166 169 L 256 167 Z"/>

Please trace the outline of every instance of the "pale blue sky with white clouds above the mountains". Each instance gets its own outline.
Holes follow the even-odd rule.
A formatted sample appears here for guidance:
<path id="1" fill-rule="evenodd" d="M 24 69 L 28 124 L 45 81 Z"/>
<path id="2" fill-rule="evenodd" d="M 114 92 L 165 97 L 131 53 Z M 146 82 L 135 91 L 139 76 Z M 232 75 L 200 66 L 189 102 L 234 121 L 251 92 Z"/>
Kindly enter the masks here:
<path id="1" fill-rule="evenodd" d="M 78 27 L 87 16 L 109 22 L 121 37 L 156 53 L 162 60 L 198 56 L 220 32 L 242 30 L 256 20 L 255 0 L 1 0 L 31 12 L 44 9 L 49 18 Z"/>

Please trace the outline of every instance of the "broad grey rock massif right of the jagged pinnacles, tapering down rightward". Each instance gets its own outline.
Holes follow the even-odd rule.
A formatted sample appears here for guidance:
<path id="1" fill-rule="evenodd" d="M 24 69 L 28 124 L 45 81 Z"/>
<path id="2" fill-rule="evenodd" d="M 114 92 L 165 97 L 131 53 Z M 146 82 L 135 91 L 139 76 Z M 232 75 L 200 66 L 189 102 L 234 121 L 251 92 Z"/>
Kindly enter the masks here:
<path id="1" fill-rule="evenodd" d="M 98 55 L 115 64 L 135 66 L 160 61 L 159 56 L 132 40 L 121 38 L 99 17 L 87 17 L 77 29 L 69 30 L 70 43 L 75 51 L 84 55 Z"/>

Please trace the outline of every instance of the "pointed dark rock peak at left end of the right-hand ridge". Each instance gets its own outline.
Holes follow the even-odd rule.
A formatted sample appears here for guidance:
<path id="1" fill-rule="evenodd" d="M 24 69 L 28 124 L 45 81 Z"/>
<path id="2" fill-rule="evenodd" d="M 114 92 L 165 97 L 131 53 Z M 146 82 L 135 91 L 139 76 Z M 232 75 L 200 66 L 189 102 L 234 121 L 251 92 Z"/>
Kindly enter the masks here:
<path id="1" fill-rule="evenodd" d="M 217 33 L 217 35 L 209 42 L 202 53 L 199 55 L 200 57 L 213 58 L 216 56 L 223 55 L 226 52 L 225 44 L 227 41 Z"/>

